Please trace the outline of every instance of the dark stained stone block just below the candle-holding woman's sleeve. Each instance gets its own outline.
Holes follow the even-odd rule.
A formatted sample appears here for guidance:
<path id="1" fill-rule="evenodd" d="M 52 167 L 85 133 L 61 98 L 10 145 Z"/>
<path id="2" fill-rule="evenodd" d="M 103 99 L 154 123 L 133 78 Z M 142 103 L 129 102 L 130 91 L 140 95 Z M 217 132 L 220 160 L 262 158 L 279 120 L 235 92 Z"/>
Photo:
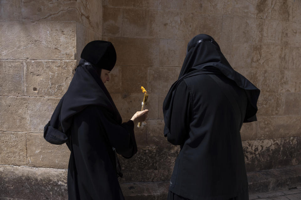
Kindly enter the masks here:
<path id="1" fill-rule="evenodd" d="M 124 172 L 158 170 L 157 146 L 138 146 L 138 152 L 130 159 L 119 155 L 119 162 Z"/>

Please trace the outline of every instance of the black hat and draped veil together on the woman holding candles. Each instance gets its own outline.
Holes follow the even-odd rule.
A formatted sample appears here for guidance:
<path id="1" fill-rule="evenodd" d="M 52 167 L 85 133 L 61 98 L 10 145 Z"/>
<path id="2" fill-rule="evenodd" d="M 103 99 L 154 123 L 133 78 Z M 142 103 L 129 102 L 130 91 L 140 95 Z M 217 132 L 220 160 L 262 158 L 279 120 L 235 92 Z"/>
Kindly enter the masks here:
<path id="1" fill-rule="evenodd" d="M 99 48 L 92 51 L 91 45 Z M 108 57 L 107 54 L 111 56 Z M 116 52 L 112 43 L 101 40 L 89 42 L 81 57 L 67 92 L 44 127 L 44 138 L 52 144 L 68 142 L 72 117 L 89 105 L 102 107 L 111 113 L 117 123 L 122 123 L 122 118 L 99 76 L 100 68 L 111 70 L 115 65 Z"/>

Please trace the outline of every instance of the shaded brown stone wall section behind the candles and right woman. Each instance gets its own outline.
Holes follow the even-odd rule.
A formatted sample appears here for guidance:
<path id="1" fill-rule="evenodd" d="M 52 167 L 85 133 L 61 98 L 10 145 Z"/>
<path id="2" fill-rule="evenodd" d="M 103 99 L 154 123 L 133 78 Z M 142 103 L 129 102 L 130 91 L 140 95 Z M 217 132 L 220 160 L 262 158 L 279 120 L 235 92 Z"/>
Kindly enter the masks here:
<path id="1" fill-rule="evenodd" d="M 301 164 L 301 3 L 299 1 L 103 0 L 103 39 L 117 52 L 106 84 L 124 121 L 149 92 L 138 153 L 121 158 L 121 182 L 169 180 L 179 151 L 163 137 L 162 104 L 179 75 L 188 41 L 215 38 L 239 73 L 261 89 L 258 121 L 241 137 L 247 171 Z"/>

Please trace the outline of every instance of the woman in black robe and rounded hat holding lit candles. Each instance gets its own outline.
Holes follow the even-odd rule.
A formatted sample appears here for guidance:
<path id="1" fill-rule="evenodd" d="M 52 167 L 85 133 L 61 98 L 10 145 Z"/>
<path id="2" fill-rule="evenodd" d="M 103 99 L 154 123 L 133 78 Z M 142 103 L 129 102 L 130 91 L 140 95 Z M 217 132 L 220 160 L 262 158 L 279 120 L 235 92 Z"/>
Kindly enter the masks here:
<path id="1" fill-rule="evenodd" d="M 111 42 L 92 41 L 83 49 L 70 86 L 44 128 L 44 138 L 66 143 L 69 199 L 124 199 L 116 153 L 131 158 L 137 152 L 134 122 L 144 121 L 147 110 L 122 123 L 121 116 L 101 80 L 111 71 L 116 52 Z"/>

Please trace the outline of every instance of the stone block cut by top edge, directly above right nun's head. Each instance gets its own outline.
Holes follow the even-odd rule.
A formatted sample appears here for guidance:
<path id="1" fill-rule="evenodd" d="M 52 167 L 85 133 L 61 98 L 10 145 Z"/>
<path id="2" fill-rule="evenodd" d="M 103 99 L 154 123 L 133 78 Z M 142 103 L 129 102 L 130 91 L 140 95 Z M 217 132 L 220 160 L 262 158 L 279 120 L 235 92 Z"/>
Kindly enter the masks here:
<path id="1" fill-rule="evenodd" d="M 198 1 L 188 0 L 187 10 L 190 12 L 206 13 L 206 14 L 230 14 L 233 8 L 233 2 L 231 0 L 221 1 Z"/>

